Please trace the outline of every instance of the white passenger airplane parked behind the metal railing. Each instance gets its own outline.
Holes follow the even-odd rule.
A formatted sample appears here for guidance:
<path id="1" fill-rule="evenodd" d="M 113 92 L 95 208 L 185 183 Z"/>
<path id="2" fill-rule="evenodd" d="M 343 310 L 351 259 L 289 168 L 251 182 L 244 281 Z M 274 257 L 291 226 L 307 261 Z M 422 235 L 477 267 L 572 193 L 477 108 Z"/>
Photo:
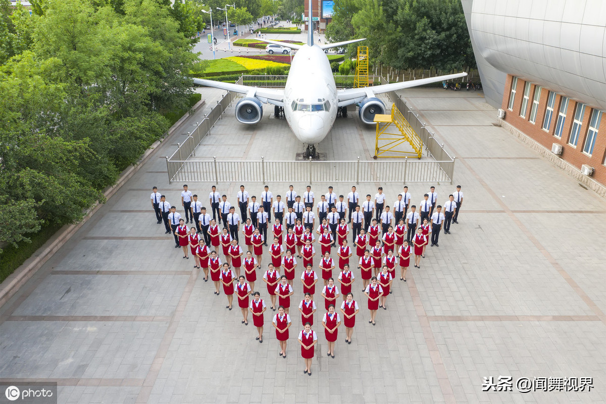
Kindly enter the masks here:
<path id="1" fill-rule="evenodd" d="M 312 2 L 310 1 L 310 8 L 311 5 Z M 309 15 L 311 15 L 311 9 Z M 332 128 L 338 107 L 359 104 L 361 121 L 365 124 L 373 124 L 375 114 L 385 113 L 385 104 L 376 98 L 376 94 L 467 76 L 467 73 L 457 73 L 373 87 L 337 90 L 335 78 L 330 69 L 330 62 L 328 62 L 324 50 L 364 40 L 365 38 L 319 45 L 313 41 L 313 30 L 309 30 L 307 44 L 305 45 L 259 39 L 259 41 L 297 50 L 288 72 L 284 90 L 248 87 L 241 84 L 205 79 L 193 79 L 193 82 L 205 87 L 221 88 L 222 90 L 246 94 L 236 104 L 236 119 L 242 124 L 257 124 L 261 121 L 263 116 L 262 103 L 284 107 L 284 116 L 291 130 L 299 141 L 307 145 L 304 157 L 311 156 L 315 158 L 315 144 L 321 142 Z"/>

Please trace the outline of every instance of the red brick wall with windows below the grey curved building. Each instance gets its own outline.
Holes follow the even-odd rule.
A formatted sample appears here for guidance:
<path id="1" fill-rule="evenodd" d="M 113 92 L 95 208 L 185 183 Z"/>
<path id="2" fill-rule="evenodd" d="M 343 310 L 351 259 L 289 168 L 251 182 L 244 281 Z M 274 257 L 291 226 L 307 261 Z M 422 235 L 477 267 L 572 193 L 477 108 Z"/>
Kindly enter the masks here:
<path id="1" fill-rule="evenodd" d="M 541 98 L 539 98 L 539 108 L 536 113 L 536 121 L 534 124 L 530 122 L 530 111 L 532 108 L 532 101 L 534 97 L 534 90 L 536 85 L 530 85 L 530 94 L 528 95 L 528 105 L 526 111 L 526 117 L 520 116 L 520 108 L 522 107 L 522 99 L 524 98 L 524 85 L 525 81 L 518 78 L 518 86 L 516 88 L 516 96 L 513 102 L 513 111 L 507 109 L 509 103 L 509 94 L 511 91 L 511 82 L 513 76 L 507 75 L 507 81 L 505 82 L 505 91 L 503 93 L 503 101 L 501 108 L 505 110 L 504 121 L 513 127 L 517 128 L 527 136 L 532 137 L 535 141 L 542 144 L 544 147 L 551 150 L 551 145 L 558 143 L 562 145 L 561 158 L 565 161 L 573 164 L 575 167 L 581 170 L 582 164 L 590 165 L 594 168 L 593 175 L 591 176 L 594 180 L 600 184 L 606 185 L 606 167 L 604 166 L 604 157 L 606 154 L 606 113 L 602 113 L 601 124 L 596 138 L 595 145 L 593 147 L 593 153 L 591 156 L 583 153 L 583 147 L 585 146 L 585 137 L 587 137 L 587 130 L 589 128 L 589 121 L 593 108 L 590 105 L 585 105 L 585 114 L 583 116 L 583 124 L 581 132 L 579 133 L 579 139 L 576 147 L 568 144 L 570 137 L 570 130 L 574 121 L 574 110 L 576 108 L 576 101 L 568 99 L 568 108 L 566 112 L 566 121 L 564 122 L 564 128 L 562 130 L 562 138 L 554 136 L 556 129 L 556 122 L 558 121 L 558 113 L 560 109 L 560 103 L 562 96 L 556 94 L 555 102 L 553 105 L 553 114 L 551 114 L 551 126 L 549 131 L 543 130 L 543 119 L 545 118 L 545 111 L 547 111 L 547 98 L 549 94 L 548 88 L 542 88 Z"/>

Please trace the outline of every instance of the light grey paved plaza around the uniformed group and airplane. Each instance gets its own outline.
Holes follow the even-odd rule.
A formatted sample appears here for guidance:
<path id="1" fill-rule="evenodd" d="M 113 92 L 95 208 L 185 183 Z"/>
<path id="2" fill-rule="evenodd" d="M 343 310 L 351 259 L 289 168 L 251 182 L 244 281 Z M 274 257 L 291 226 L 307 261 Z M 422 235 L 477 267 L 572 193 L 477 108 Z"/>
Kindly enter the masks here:
<path id="1" fill-rule="evenodd" d="M 296 340 L 298 278 L 283 359 L 270 325 L 275 313 L 265 313 L 259 343 L 251 317 L 245 326 L 236 302 L 225 309 L 225 295 L 215 296 L 213 283 L 192 270 L 193 259 L 182 259 L 150 209 L 153 185 L 180 208 L 183 184 L 168 184 L 164 156 L 224 94 L 199 91 L 205 109 L 2 306 L 0 381 L 57 382 L 59 403 L 606 402 L 606 201 L 493 125 L 496 110 L 481 92 L 401 91 L 456 156 L 453 184 L 408 184 L 413 202 L 419 205 L 435 185 L 444 204 L 460 184 L 459 224 L 441 234 L 439 247 L 427 247 L 407 283 L 397 271 L 376 326 L 368 324 L 354 271 L 361 311 L 351 345 L 339 329 L 335 359 L 326 356 L 316 288 L 318 345 L 307 376 Z M 265 105 L 261 124 L 244 126 L 232 105 L 196 158 L 295 159 L 303 145 L 270 111 Z M 350 114 L 336 121 L 319 151 L 328 160 L 370 160 L 374 134 Z M 208 202 L 213 184 L 188 185 Z M 233 204 L 239 185 L 222 183 L 218 191 Z M 245 185 L 256 196 L 262 191 L 260 183 Z M 290 184 L 268 185 L 284 195 Z M 302 194 L 308 184 L 293 185 Z M 328 185 L 347 194 L 355 184 L 312 189 L 319 196 Z M 374 195 L 382 186 L 391 205 L 402 185 L 361 182 L 358 190 Z M 265 253 L 263 267 L 268 261 Z M 265 284 L 256 282 L 256 290 L 269 305 Z M 482 391 L 485 378 L 499 384 L 499 377 L 505 391 Z M 516 382 L 524 377 L 593 384 L 580 391 L 552 379 L 545 389 L 554 391 L 534 391 L 535 382 L 519 392 Z"/>

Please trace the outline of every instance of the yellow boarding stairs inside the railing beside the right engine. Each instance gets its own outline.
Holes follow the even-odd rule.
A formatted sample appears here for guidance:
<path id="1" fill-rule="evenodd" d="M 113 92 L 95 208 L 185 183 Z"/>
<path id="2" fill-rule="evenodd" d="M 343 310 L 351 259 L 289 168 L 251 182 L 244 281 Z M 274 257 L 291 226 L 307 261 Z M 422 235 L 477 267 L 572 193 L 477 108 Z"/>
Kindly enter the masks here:
<path id="1" fill-rule="evenodd" d="M 417 136 L 408 121 L 402 116 L 396 105 L 391 106 L 390 115 L 376 114 L 377 133 L 375 138 L 375 156 L 397 158 L 416 156 L 421 159 L 423 141 Z M 393 124 L 393 126 L 392 126 Z M 414 151 L 397 150 L 398 146 L 408 142 Z M 393 154 L 393 155 L 392 155 Z"/>

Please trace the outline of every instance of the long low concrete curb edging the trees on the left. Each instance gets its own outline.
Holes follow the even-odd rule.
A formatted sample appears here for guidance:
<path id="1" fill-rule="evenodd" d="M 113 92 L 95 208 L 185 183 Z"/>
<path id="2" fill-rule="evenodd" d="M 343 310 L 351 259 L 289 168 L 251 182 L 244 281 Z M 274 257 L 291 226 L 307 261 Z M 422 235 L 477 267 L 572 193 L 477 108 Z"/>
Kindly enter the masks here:
<path id="1" fill-rule="evenodd" d="M 196 102 L 196 104 L 191 107 L 191 110 L 198 111 L 206 101 L 201 99 Z M 103 194 L 105 196 L 105 200 L 109 200 L 112 196 L 118 192 L 118 190 L 124 185 L 137 171 L 141 168 L 145 162 L 147 162 L 156 152 L 158 151 L 159 145 L 162 142 L 170 139 L 175 133 L 178 132 L 178 129 L 181 125 L 187 121 L 190 113 L 185 113 L 184 116 L 179 118 L 173 126 L 168 129 L 167 136 L 162 137 L 158 141 L 154 142 L 141 156 L 141 159 L 136 162 L 136 164 L 131 165 L 126 168 L 116 181 L 116 184 L 111 185 L 110 187 L 105 188 Z M 15 272 L 10 274 L 7 279 L 4 280 L 0 284 L 0 306 L 4 305 L 10 299 L 22 285 L 24 285 L 27 280 L 29 280 L 41 267 L 46 263 L 58 250 L 63 247 L 65 243 L 67 243 L 72 236 L 78 231 L 82 225 L 84 225 L 91 217 L 101 208 L 102 204 L 97 202 L 93 207 L 91 207 L 87 213 L 85 213 L 82 220 L 73 225 L 65 225 L 61 229 L 59 229 L 53 236 L 42 245 L 42 247 L 38 248 L 35 253 L 32 254 L 25 262 L 21 265 L 21 267 L 17 268 Z"/>

